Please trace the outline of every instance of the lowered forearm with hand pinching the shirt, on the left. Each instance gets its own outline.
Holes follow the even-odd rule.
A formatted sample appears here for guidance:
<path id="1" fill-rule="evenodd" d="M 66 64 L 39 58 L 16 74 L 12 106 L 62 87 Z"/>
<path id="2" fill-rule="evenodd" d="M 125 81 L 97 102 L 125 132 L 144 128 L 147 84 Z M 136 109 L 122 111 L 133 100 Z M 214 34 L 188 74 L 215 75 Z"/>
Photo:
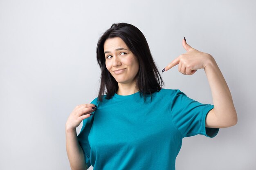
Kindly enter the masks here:
<path id="1" fill-rule="evenodd" d="M 87 170 L 83 150 L 78 143 L 76 135 L 76 127 L 81 124 L 83 119 L 90 117 L 90 113 L 94 112 L 96 106 L 94 104 L 81 104 L 74 108 L 66 122 L 66 149 L 67 157 L 70 161 L 72 170 Z"/>

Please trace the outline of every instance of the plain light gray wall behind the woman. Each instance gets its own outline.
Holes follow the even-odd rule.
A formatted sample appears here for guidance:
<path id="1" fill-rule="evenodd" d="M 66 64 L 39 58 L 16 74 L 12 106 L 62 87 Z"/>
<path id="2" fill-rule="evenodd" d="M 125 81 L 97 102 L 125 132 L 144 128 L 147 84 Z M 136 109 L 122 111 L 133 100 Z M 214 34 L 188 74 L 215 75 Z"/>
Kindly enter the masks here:
<path id="1" fill-rule="evenodd" d="M 186 53 L 183 36 L 211 54 L 234 100 L 238 124 L 184 138 L 176 170 L 255 170 L 255 8 L 254 0 L 0 0 L 0 169 L 70 170 L 67 117 L 97 97 L 99 37 L 127 22 L 144 33 L 159 71 Z M 213 104 L 203 69 L 177 69 L 161 72 L 164 88 Z"/>

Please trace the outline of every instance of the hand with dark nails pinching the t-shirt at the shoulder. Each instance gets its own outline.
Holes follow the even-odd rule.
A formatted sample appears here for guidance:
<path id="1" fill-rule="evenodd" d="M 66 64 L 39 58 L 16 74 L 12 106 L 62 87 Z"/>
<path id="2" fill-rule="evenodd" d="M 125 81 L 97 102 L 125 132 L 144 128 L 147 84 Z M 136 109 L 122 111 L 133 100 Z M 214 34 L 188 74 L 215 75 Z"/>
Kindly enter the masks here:
<path id="1" fill-rule="evenodd" d="M 77 105 L 67 119 L 66 130 L 75 130 L 83 119 L 90 117 L 90 113 L 94 112 L 95 109 L 96 106 L 94 104 Z"/>

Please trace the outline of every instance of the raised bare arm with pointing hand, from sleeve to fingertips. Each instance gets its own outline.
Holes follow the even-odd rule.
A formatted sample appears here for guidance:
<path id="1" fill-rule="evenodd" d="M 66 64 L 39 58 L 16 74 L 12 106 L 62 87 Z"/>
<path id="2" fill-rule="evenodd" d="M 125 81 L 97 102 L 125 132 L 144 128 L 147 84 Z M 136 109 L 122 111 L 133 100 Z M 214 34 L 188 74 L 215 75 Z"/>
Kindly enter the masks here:
<path id="1" fill-rule="evenodd" d="M 173 60 L 166 66 L 165 71 L 177 64 L 179 64 L 178 70 L 184 75 L 192 75 L 196 70 L 204 68 L 214 105 L 214 108 L 207 114 L 205 126 L 209 128 L 227 128 L 236 125 L 236 109 L 229 87 L 216 61 L 210 54 L 193 49 L 185 40 L 183 40 L 182 44 L 187 53 Z"/>

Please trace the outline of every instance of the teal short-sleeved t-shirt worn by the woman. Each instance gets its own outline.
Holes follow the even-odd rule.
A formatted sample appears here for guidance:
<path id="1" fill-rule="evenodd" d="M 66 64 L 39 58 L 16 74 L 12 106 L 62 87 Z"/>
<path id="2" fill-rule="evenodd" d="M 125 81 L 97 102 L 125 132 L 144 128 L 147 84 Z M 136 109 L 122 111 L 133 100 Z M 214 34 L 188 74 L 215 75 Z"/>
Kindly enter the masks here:
<path id="1" fill-rule="evenodd" d="M 106 95 L 103 95 L 105 97 Z M 182 138 L 215 137 L 219 128 L 206 128 L 211 104 L 202 104 L 178 89 L 147 95 L 115 95 L 98 103 L 83 120 L 78 135 L 85 162 L 94 170 L 175 170 Z"/>

